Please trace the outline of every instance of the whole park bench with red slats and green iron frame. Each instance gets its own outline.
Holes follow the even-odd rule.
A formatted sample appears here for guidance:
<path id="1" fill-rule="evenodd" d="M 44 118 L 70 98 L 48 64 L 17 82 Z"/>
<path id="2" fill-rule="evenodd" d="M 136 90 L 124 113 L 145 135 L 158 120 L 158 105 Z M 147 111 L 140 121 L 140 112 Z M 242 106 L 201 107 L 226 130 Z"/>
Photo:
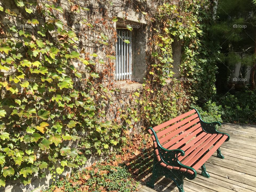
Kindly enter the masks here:
<path id="1" fill-rule="evenodd" d="M 209 178 L 205 162 L 217 151 L 224 159 L 220 146 L 229 141 L 229 135 L 216 130 L 220 122 L 206 123 L 198 111 L 184 113 L 155 127 L 149 127 L 154 146 L 153 173 L 147 186 L 154 188 L 155 180 L 165 176 L 174 181 L 179 192 L 183 190 L 183 179 L 197 176 L 201 167 L 202 176 Z"/>

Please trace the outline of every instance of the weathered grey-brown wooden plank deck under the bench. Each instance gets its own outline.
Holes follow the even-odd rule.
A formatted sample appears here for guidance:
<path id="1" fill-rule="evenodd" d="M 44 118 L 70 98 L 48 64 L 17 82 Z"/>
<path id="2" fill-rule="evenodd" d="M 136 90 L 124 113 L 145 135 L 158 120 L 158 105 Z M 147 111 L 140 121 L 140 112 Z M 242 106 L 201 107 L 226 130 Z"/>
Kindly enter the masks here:
<path id="1" fill-rule="evenodd" d="M 219 129 L 230 134 L 230 140 L 221 146 L 224 159 L 211 156 L 205 163 L 210 178 L 201 176 L 198 170 L 194 180 L 184 179 L 185 192 L 256 192 L 256 126 L 223 123 Z M 176 192 L 172 181 L 159 178 L 155 188 L 143 185 L 141 192 Z"/>

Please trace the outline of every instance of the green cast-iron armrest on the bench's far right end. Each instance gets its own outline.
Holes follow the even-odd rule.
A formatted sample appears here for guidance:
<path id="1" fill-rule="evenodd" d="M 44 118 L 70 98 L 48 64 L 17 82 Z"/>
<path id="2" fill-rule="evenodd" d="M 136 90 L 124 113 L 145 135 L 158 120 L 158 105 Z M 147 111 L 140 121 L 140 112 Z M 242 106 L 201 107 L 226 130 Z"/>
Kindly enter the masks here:
<path id="1" fill-rule="evenodd" d="M 193 109 L 197 111 L 197 109 L 195 109 L 195 108 L 193 108 Z M 197 114 L 198 114 L 198 116 L 199 116 L 200 123 L 201 123 L 201 125 L 202 125 L 203 131 L 205 131 L 206 133 L 211 133 L 211 134 L 224 134 L 224 135 L 227 135 L 226 141 L 229 141 L 229 138 L 230 138 L 229 134 L 227 134 L 227 133 L 222 133 L 222 132 L 220 132 L 220 131 L 218 131 L 218 130 L 216 129 L 216 125 L 221 126 L 221 123 L 220 123 L 220 122 L 215 121 L 215 122 L 207 123 L 207 122 L 205 122 L 205 121 L 202 120 L 201 115 L 199 114 L 198 111 L 197 111 Z M 226 142 L 226 141 L 225 141 L 225 142 Z"/>

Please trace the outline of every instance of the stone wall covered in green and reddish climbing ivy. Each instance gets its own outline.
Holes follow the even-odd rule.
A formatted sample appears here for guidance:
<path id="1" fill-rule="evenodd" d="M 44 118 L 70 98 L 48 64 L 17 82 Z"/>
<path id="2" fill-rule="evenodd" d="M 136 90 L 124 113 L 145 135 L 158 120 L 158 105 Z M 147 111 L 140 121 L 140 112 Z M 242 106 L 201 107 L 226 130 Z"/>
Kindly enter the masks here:
<path id="1" fill-rule="evenodd" d="M 216 67 L 206 62 L 201 44 L 203 18 L 211 14 L 205 0 L 0 3 L 3 187 L 118 153 L 134 132 L 177 116 L 215 90 Z M 117 22 L 149 29 L 146 74 L 139 86 L 127 82 L 133 89 L 114 80 Z M 182 44 L 181 78 L 175 79 L 174 38 Z"/>

